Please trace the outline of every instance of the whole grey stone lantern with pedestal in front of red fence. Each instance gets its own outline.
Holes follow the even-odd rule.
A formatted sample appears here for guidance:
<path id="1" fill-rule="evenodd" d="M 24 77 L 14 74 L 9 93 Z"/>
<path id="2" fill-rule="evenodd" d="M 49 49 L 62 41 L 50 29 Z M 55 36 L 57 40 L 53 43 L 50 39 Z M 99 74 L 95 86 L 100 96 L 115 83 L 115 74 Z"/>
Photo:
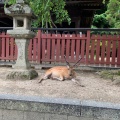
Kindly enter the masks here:
<path id="1" fill-rule="evenodd" d="M 31 31 L 31 20 L 35 19 L 36 16 L 25 0 L 16 0 L 16 4 L 5 8 L 4 11 L 7 15 L 13 17 L 13 30 L 7 30 L 7 33 L 15 38 L 18 48 L 17 61 L 12 66 L 15 70 L 7 78 L 13 79 L 16 76 L 20 78 L 23 75 L 26 76 L 25 79 L 32 79 L 38 74 L 35 70 L 30 70 L 28 44 L 29 40 L 35 37 L 35 33 Z"/>

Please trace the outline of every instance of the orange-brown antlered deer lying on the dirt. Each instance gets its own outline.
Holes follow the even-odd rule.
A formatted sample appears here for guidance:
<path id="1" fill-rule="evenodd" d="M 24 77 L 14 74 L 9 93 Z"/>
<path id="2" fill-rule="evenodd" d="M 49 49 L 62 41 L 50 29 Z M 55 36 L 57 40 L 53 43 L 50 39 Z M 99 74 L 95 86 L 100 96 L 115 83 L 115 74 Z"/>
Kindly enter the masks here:
<path id="1" fill-rule="evenodd" d="M 73 82 L 76 82 L 77 84 L 78 81 L 75 80 L 76 78 L 76 72 L 74 71 L 74 68 L 77 67 L 82 58 L 80 58 L 73 66 L 67 62 L 66 57 L 64 56 L 65 61 L 67 63 L 67 66 L 56 66 L 48 69 L 44 76 L 41 77 L 39 83 L 41 83 L 45 79 L 56 79 L 56 80 L 72 80 Z"/>

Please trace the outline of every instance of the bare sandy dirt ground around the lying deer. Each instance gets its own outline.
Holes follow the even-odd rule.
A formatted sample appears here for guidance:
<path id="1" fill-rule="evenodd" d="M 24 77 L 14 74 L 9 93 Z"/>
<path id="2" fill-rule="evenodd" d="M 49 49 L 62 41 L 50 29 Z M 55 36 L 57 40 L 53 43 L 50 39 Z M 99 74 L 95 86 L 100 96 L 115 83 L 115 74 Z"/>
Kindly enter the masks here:
<path id="1" fill-rule="evenodd" d="M 34 80 L 6 80 L 6 74 L 11 68 L 0 67 L 0 94 L 34 95 L 45 97 L 73 98 L 120 103 L 120 86 L 112 85 L 110 80 L 104 80 L 95 72 L 79 71 L 77 79 L 80 87 L 70 80 L 44 80 L 41 84 Z M 44 71 L 37 71 L 39 76 Z M 42 72 L 42 73 L 41 73 Z"/>

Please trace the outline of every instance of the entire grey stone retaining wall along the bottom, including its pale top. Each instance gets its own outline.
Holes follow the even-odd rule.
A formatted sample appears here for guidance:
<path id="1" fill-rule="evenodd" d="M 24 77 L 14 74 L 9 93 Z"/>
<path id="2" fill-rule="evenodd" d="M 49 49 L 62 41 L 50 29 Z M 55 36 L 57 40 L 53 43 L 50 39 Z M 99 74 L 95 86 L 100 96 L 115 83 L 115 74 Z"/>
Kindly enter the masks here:
<path id="1" fill-rule="evenodd" d="M 0 95 L 0 120 L 120 120 L 120 104 Z"/>

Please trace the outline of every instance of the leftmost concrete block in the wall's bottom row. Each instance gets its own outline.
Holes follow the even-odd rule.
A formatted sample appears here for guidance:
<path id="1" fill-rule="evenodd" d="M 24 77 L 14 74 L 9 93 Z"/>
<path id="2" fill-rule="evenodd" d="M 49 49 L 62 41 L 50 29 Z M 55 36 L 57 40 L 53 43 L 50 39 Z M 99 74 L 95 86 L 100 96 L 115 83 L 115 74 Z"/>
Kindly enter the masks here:
<path id="1" fill-rule="evenodd" d="M 2 112 L 3 112 L 2 120 L 24 120 L 22 111 L 3 110 Z"/>

